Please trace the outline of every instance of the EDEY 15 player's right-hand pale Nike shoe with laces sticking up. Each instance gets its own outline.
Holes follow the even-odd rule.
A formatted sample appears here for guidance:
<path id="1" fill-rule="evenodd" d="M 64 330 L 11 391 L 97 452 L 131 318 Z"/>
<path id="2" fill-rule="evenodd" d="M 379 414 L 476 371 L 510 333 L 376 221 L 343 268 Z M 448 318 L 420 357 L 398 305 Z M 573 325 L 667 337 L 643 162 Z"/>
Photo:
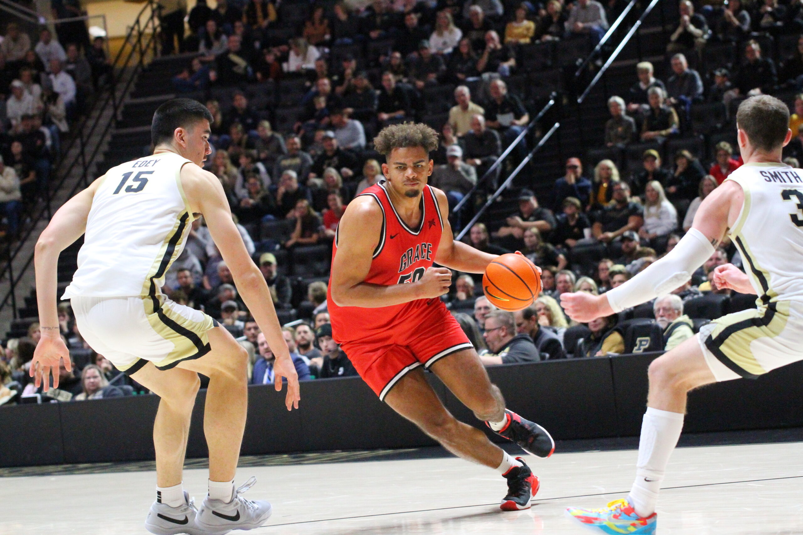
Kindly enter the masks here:
<path id="1" fill-rule="evenodd" d="M 198 509 L 195 523 L 214 535 L 229 533 L 232 529 L 254 529 L 263 525 L 273 512 L 271 504 L 264 500 L 248 500 L 240 496 L 254 486 L 256 478 L 251 476 L 234 492 L 234 499 L 229 503 L 222 500 L 206 499 Z"/>

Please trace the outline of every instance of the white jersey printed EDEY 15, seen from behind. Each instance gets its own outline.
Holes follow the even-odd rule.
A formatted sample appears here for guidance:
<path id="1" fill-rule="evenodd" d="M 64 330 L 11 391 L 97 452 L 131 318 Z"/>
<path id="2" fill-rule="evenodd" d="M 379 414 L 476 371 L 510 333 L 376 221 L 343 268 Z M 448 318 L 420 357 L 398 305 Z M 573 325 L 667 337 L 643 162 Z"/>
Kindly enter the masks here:
<path id="1" fill-rule="evenodd" d="M 160 152 L 108 170 L 63 299 L 159 293 L 194 219 L 181 188 L 181 167 L 189 162 Z"/>

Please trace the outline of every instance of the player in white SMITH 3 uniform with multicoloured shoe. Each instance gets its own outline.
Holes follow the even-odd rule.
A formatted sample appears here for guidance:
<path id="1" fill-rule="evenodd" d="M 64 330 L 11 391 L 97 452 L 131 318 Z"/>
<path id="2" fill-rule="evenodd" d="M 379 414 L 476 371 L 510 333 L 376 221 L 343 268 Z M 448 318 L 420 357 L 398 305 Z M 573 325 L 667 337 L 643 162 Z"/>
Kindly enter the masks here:
<path id="1" fill-rule="evenodd" d="M 599 533 L 654 533 L 655 505 L 666 464 L 683 428 L 687 393 L 704 384 L 756 379 L 803 360 L 803 170 L 781 163 L 789 143 L 789 110 L 768 95 L 744 100 L 736 114 L 744 165 L 695 215 L 691 230 L 666 257 L 606 294 L 563 294 L 577 322 L 615 314 L 685 284 L 726 236 L 747 274 L 720 265 L 713 284 L 757 294 L 757 308 L 703 326 L 650 365 L 650 393 L 630 495 L 603 509 L 569 508 L 569 517 Z"/>

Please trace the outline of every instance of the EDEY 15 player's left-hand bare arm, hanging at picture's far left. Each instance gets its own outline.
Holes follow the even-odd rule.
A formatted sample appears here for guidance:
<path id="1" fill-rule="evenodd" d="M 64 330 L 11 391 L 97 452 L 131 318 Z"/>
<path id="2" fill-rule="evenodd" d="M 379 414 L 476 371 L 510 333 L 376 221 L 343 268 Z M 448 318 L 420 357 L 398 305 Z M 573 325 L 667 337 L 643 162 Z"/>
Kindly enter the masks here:
<path id="1" fill-rule="evenodd" d="M 42 331 L 42 338 L 36 346 L 30 373 L 35 377 L 37 388 L 44 379 L 46 392 L 50 387 L 51 371 L 53 387 L 59 387 L 60 359 L 64 359 L 67 371 L 72 369 L 70 352 L 61 339 L 59 314 L 56 310 L 59 254 L 84 234 L 89 209 L 92 208 L 92 198 L 95 197 L 95 192 L 103 180 L 104 176 L 101 176 L 84 191 L 64 203 L 36 241 L 34 249 L 36 303 L 39 306 L 39 329 Z"/>

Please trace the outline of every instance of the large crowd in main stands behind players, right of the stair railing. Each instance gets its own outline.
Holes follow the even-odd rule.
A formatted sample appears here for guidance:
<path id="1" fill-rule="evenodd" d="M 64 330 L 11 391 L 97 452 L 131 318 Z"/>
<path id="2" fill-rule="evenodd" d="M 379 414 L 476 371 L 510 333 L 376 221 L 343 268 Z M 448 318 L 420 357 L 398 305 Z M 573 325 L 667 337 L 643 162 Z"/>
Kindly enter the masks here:
<path id="1" fill-rule="evenodd" d="M 432 155 L 430 184 L 454 207 L 537 110 L 516 81 L 532 68 L 522 51 L 538 43 L 593 44 L 624 6 L 219 0 L 212 9 L 199 0 L 185 14 L 179 3 L 162 3 L 163 50 L 198 53 L 173 83 L 214 116 L 206 168 L 221 180 L 271 289 L 302 379 L 356 375 L 332 339 L 326 281 L 345 206 L 382 179 L 373 135 L 405 120 L 436 127 L 442 144 Z M 795 134 L 785 161 L 798 167 L 803 158 L 801 3 L 683 0 L 677 20 L 666 33 L 665 61 L 638 63 L 630 88 L 609 95 L 604 136 L 569 155 L 563 176 L 548 187 L 525 180 L 527 187 L 506 194 L 495 215 L 467 233 L 477 249 L 518 250 L 543 270 L 542 293 L 515 314 L 484 298 L 479 275 L 454 274 L 442 299 L 487 366 L 671 349 L 703 322 L 754 306 L 755 296 L 708 281 L 718 265 L 742 265 L 726 239 L 690 282 L 654 302 L 587 325 L 560 307 L 560 294 L 602 294 L 671 251 L 703 199 L 742 164 L 734 123 L 742 99 L 785 99 Z M 267 98 L 276 87 L 292 91 Z M 526 151 L 520 144 L 483 192 Z M 251 383 L 272 382 L 271 348 L 202 221 L 194 222 L 163 290 L 238 337 L 251 355 Z M 89 351 L 64 313 L 70 347 Z M 22 377 L 31 344 L 35 332 L 9 342 L 0 379 L 3 366 L 8 377 Z M 95 360 L 97 369 L 89 366 Z M 112 377 L 104 361 L 87 359 L 88 376 L 73 379 L 76 396 L 99 397 L 108 388 L 104 378 L 116 377 L 137 391 Z"/>

